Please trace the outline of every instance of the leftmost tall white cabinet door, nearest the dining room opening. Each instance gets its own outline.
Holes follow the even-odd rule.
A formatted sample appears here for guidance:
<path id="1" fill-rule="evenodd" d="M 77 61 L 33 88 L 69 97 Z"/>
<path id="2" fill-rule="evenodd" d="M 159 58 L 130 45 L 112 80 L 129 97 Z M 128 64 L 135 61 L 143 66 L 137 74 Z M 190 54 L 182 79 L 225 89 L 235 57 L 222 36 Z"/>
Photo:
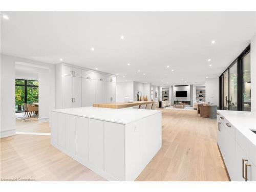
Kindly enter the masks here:
<path id="1" fill-rule="evenodd" d="M 62 75 L 62 108 L 73 108 L 73 77 Z"/>

